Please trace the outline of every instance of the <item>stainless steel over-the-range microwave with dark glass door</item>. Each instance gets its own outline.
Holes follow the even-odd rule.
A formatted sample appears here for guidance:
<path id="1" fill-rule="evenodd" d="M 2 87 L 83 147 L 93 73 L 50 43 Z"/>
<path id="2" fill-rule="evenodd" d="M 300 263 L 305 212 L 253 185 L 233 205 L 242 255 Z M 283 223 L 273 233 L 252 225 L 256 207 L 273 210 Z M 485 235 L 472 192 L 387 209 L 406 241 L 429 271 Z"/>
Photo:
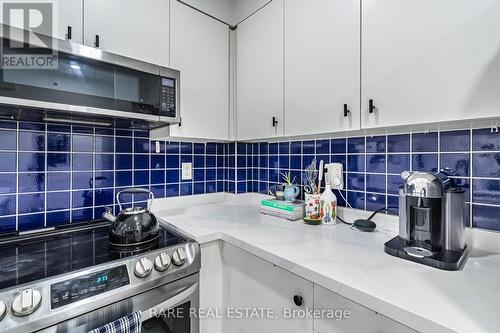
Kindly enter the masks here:
<path id="1" fill-rule="evenodd" d="M 180 121 L 178 70 L 5 25 L 1 30 L 0 118 L 127 127 Z"/>

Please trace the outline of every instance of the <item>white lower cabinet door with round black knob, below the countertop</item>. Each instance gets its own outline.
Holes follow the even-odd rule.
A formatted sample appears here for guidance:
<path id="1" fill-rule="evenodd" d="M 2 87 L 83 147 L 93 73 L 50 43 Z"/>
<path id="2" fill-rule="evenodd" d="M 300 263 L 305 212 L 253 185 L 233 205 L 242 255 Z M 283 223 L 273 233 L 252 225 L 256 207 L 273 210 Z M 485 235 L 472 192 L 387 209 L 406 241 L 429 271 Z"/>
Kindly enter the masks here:
<path id="1" fill-rule="evenodd" d="M 264 261 L 248 252 L 227 243 L 222 248 L 223 295 L 222 303 L 229 309 L 272 309 L 242 318 L 230 313 L 224 321 L 223 332 L 286 332 L 311 333 L 311 318 L 288 318 L 285 309 L 291 311 L 311 309 L 313 306 L 313 284 L 301 277 Z M 303 304 L 297 306 L 294 296 L 302 297 Z M 231 310 L 230 310 L 231 311 Z M 252 318 L 252 316 L 255 316 Z M 277 318 L 274 318 L 277 316 Z"/>

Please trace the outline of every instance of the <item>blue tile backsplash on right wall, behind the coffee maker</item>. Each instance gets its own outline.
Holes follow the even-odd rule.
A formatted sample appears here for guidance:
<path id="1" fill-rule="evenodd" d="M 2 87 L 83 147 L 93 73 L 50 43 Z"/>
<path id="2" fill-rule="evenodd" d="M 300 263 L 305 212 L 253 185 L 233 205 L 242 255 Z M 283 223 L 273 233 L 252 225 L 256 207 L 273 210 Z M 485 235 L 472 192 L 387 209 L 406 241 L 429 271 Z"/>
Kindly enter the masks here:
<path id="1" fill-rule="evenodd" d="M 489 128 L 239 143 L 236 148 L 237 165 L 230 168 L 236 170 L 238 193 L 266 193 L 288 171 L 302 183 L 304 168 L 316 157 L 344 165 L 342 194 L 352 207 L 365 210 L 397 210 L 402 171 L 447 168 L 466 190 L 469 226 L 500 231 L 500 134 Z M 229 179 L 232 183 L 234 176 Z M 338 194 L 337 199 L 346 205 Z"/>

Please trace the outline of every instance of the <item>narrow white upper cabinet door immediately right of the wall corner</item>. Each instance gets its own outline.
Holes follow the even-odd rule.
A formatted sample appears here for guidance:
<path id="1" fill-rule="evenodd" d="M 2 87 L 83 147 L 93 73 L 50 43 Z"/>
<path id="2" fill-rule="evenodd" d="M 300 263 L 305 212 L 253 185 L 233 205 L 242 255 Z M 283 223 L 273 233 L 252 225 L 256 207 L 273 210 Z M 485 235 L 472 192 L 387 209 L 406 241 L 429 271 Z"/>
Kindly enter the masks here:
<path id="1" fill-rule="evenodd" d="M 283 0 L 273 0 L 240 23 L 236 39 L 236 135 L 238 139 L 280 136 Z"/>

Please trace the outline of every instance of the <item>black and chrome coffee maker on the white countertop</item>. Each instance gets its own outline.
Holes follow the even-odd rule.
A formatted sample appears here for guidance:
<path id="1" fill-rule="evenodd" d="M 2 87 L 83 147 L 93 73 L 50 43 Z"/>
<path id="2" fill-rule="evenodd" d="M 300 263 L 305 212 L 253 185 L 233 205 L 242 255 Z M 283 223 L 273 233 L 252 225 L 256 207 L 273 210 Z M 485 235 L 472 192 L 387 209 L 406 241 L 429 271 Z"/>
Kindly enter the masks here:
<path id="1" fill-rule="evenodd" d="M 443 172 L 401 174 L 399 235 L 385 252 L 444 270 L 458 270 L 467 258 L 465 191 Z"/>

